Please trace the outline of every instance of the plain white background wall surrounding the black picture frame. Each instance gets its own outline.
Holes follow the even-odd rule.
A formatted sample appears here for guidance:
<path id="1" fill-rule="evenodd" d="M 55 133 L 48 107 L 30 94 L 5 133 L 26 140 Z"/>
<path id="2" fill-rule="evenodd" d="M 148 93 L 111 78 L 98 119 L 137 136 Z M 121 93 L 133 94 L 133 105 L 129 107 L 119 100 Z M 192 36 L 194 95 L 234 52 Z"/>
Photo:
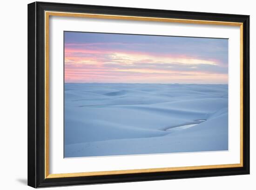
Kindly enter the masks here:
<path id="1" fill-rule="evenodd" d="M 41 0 L 43 1 L 43 0 Z M 52 1 L 52 0 L 47 0 Z M 27 3 L 29 0 L 10 0 L 1 2 L 0 30 L 0 187 L 1 189 L 31 189 L 27 183 Z M 251 97 L 256 96 L 256 53 L 254 33 L 256 27 L 255 5 L 253 1 L 243 0 L 54 0 L 53 2 L 81 3 L 119 7 L 140 7 L 183 11 L 249 14 L 250 17 L 250 83 Z M 256 100 L 251 98 L 251 174 L 244 176 L 207 177 L 178 179 L 154 182 L 115 183 L 90 186 L 60 187 L 58 189 L 255 189 L 256 164 L 254 125 Z M 254 116 L 254 117 L 253 117 Z M 53 188 L 57 189 L 57 188 Z"/>

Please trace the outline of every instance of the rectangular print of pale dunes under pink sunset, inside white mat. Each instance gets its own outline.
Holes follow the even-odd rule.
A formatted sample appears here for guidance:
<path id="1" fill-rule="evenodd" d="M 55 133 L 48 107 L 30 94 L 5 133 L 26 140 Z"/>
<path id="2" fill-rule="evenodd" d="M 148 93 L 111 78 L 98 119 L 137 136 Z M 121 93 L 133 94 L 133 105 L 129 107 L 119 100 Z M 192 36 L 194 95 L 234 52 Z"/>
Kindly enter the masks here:
<path id="1" fill-rule="evenodd" d="M 228 150 L 228 39 L 64 32 L 64 157 Z"/>

